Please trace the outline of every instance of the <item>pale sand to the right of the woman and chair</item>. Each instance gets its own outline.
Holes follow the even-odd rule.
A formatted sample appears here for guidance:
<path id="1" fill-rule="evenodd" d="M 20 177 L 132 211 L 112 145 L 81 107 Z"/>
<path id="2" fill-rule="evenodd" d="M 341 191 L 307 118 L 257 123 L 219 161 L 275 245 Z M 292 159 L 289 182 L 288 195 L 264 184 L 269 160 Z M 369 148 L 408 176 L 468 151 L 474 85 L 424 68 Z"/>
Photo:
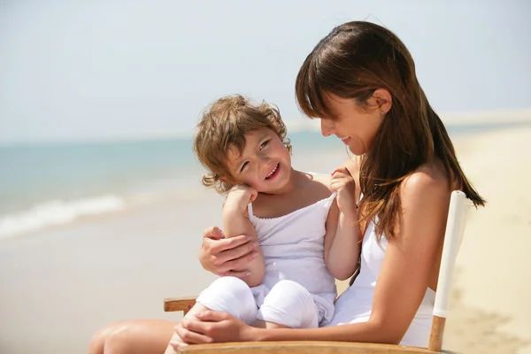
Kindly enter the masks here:
<path id="1" fill-rule="evenodd" d="M 531 353 L 531 127 L 457 147 L 488 204 L 466 227 L 446 342 L 464 353 Z"/>

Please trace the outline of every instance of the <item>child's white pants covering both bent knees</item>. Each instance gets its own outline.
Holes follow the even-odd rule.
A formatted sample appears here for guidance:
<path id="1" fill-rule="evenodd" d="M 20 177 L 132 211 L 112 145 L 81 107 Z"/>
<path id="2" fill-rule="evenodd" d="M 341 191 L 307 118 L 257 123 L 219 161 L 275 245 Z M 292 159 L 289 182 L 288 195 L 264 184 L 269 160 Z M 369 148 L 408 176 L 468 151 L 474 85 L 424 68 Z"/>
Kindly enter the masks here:
<path id="1" fill-rule="evenodd" d="M 258 308 L 244 281 L 222 277 L 204 289 L 196 302 L 213 311 L 228 312 L 248 325 L 262 319 L 292 328 L 319 326 L 319 310 L 312 294 L 295 281 L 277 282 Z"/>

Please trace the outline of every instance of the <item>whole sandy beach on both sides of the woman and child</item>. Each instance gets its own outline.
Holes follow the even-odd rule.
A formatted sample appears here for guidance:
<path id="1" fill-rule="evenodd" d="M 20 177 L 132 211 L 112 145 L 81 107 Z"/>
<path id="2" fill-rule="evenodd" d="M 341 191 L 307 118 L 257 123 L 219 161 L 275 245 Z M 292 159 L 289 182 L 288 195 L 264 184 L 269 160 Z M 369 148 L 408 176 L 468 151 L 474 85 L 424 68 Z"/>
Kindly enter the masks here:
<path id="1" fill-rule="evenodd" d="M 531 119 L 530 119 L 531 120 Z M 473 212 L 458 255 L 445 348 L 531 353 L 531 126 L 460 137 L 458 158 L 489 204 Z M 327 173 L 344 148 L 294 158 Z M 184 200 L 0 240 L 0 352 L 85 353 L 119 319 L 180 319 L 165 296 L 196 295 L 212 279 L 196 260 L 204 227 L 219 225 L 211 190 Z M 340 284 L 340 287 L 344 286 Z"/>

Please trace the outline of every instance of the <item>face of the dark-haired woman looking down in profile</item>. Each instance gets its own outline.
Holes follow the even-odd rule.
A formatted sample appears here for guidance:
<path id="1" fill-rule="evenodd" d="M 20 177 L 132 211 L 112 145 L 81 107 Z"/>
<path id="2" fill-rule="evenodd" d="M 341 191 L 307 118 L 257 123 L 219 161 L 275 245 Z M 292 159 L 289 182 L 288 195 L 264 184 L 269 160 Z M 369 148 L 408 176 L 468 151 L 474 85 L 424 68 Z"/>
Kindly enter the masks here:
<path id="1" fill-rule="evenodd" d="M 341 98 L 329 93 L 323 96 L 333 117 L 320 119 L 322 135 L 335 135 L 353 154 L 365 154 L 373 144 L 385 112 L 389 111 L 387 105 L 390 108 L 390 102 L 373 96 L 362 106 L 352 98 Z"/>

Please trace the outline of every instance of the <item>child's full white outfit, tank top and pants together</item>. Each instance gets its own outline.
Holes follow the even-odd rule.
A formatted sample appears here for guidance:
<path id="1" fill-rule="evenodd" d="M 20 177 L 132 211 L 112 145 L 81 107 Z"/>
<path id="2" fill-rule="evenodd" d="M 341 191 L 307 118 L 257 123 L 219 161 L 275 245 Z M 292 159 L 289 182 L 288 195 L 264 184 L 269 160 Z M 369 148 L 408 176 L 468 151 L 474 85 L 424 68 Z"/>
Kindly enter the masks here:
<path id="1" fill-rule="evenodd" d="M 249 219 L 266 262 L 262 284 L 250 289 L 243 281 L 223 277 L 204 289 L 197 303 L 229 312 L 249 324 L 262 319 L 301 328 L 330 321 L 337 292 L 325 265 L 324 236 L 334 198 L 335 193 L 271 219 L 258 218 L 249 204 Z"/>

